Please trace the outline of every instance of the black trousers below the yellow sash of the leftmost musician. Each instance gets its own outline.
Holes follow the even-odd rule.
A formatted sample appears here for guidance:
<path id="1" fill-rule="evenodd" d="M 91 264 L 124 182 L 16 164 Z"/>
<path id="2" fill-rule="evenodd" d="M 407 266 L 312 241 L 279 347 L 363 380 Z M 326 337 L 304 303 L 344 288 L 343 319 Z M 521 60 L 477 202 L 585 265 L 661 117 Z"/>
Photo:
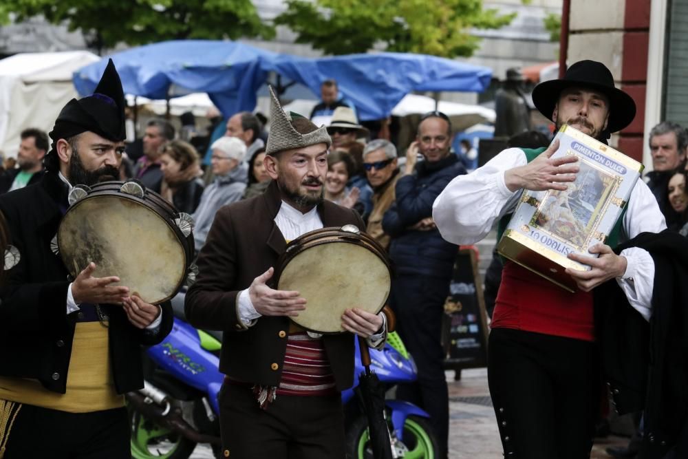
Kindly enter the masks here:
<path id="1" fill-rule="evenodd" d="M 3 459 L 130 459 L 127 409 L 67 413 L 21 405 Z"/>

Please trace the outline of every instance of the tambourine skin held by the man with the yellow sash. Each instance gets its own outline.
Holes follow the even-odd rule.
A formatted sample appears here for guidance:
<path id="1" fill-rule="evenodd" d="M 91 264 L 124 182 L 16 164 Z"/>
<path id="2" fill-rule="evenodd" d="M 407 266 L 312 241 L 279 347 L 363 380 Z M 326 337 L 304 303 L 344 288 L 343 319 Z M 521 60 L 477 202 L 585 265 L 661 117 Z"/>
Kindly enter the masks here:
<path id="1" fill-rule="evenodd" d="M 97 195 L 76 202 L 58 229 L 58 247 L 74 277 L 93 261 L 94 277 L 117 276 L 147 303 L 177 293 L 186 275 L 180 238 L 160 213 L 136 200 Z"/>

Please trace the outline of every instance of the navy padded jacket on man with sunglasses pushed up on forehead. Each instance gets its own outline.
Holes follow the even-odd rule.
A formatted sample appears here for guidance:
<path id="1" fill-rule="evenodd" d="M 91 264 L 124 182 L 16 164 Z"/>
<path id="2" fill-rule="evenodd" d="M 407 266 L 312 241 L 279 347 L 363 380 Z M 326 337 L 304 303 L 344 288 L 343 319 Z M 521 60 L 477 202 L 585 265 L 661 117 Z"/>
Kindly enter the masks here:
<path id="1" fill-rule="evenodd" d="M 396 201 L 383 217 L 383 229 L 391 237 L 389 257 L 398 274 L 450 279 L 457 247 L 442 239 L 440 231 L 409 229 L 432 216 L 432 204 L 457 175 L 466 173 L 458 156 L 438 162 L 419 162 L 411 175 L 396 182 Z"/>

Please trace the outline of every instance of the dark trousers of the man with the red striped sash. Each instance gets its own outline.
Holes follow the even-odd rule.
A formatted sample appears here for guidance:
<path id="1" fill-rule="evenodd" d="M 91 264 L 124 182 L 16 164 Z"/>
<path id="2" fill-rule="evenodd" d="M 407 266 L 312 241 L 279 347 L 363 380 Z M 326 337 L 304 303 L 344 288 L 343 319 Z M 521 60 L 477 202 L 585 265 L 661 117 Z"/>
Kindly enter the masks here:
<path id="1" fill-rule="evenodd" d="M 219 393 L 224 456 L 233 459 L 343 459 L 341 396 L 277 395 L 260 409 L 250 387 L 225 383 Z M 226 451 L 229 451 L 227 453 Z"/>

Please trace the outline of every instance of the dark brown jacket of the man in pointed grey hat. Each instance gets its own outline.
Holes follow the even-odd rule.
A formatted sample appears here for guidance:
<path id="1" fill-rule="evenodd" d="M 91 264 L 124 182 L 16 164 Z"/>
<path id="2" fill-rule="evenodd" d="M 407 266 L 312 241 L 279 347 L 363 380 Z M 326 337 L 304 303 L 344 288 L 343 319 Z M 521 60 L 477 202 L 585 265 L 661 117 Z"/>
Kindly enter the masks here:
<path id="1" fill-rule="evenodd" d="M 280 206 L 279 189 L 272 182 L 264 194 L 217 211 L 198 255 L 197 280 L 186 293 L 184 310 L 189 322 L 197 328 L 224 331 L 219 370 L 246 383 L 278 385 L 286 352 L 290 319 L 260 317 L 255 325 L 246 328 L 237 316 L 239 292 L 270 266 L 275 267 L 286 249 L 286 241 L 275 224 Z M 318 213 L 325 227 L 364 227 L 356 212 L 332 202 L 320 204 Z M 268 285 L 275 288 L 271 281 Z M 323 345 L 336 388 L 341 391 L 351 387 L 354 336 L 325 335 Z"/>

